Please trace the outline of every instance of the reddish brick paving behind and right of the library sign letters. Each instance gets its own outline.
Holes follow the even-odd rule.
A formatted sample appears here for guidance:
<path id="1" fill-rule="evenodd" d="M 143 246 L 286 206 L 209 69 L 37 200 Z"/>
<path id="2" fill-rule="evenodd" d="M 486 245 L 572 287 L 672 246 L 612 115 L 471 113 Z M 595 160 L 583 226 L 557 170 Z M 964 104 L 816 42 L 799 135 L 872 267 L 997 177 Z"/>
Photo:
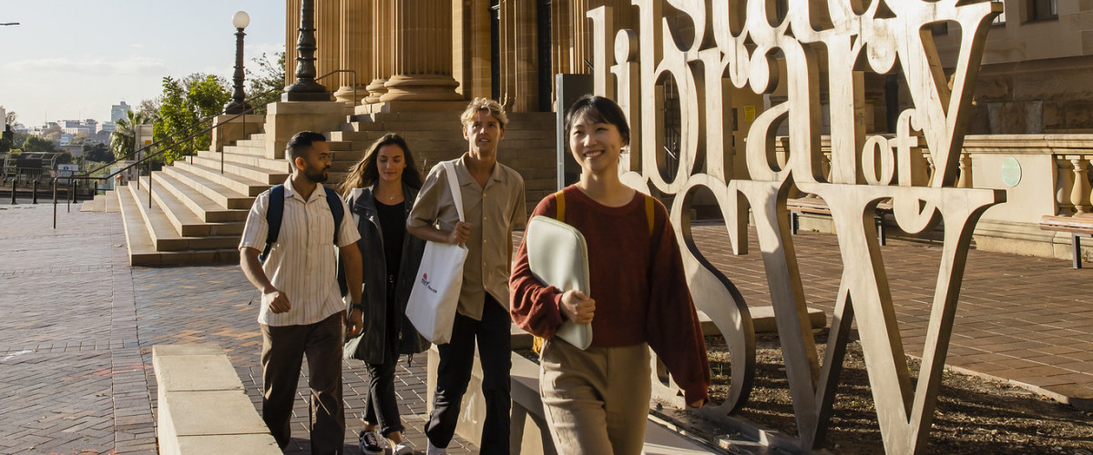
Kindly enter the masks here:
<path id="1" fill-rule="evenodd" d="M 744 256 L 731 254 L 724 225 L 695 226 L 693 234 L 750 307 L 771 304 L 754 229 Z M 807 302 L 831 321 L 843 272 L 837 238 L 801 231 L 794 241 Z M 881 252 L 904 350 L 921 357 L 941 249 L 890 240 Z M 1093 270 L 1070 268 L 1067 260 L 972 250 L 945 363 L 1093 408 L 1091 278 Z"/>

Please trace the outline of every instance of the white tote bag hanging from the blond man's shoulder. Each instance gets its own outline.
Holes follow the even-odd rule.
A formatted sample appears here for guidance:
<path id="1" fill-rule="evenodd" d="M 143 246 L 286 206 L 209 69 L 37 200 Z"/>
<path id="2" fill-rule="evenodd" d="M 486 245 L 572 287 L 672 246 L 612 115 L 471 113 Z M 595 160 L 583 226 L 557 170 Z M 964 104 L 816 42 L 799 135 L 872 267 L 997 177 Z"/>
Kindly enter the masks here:
<path id="1" fill-rule="evenodd" d="M 456 203 L 459 220 L 463 220 L 463 197 L 459 193 L 456 167 L 443 161 L 448 188 Z M 421 266 L 410 290 L 407 318 L 418 332 L 430 342 L 443 345 L 451 339 L 451 325 L 456 321 L 459 290 L 463 284 L 463 262 L 467 247 L 462 244 L 425 242 Z"/>

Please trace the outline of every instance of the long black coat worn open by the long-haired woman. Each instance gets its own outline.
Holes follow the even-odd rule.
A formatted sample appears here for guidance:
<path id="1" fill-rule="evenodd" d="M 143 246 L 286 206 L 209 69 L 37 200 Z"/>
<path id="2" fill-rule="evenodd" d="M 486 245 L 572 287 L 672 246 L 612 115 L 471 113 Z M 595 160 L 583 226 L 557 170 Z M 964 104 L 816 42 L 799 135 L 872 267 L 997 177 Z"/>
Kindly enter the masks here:
<path id="1" fill-rule="evenodd" d="M 398 346 L 395 347 L 397 355 L 418 354 L 428 349 L 428 340 L 418 333 L 406 316 L 407 300 L 410 299 L 410 289 L 418 275 L 422 252 L 425 251 L 425 241 L 407 232 L 402 241 L 402 261 L 398 283 L 395 284 L 395 299 L 392 304 L 388 306 L 384 236 L 380 232 L 376 204 L 372 195 L 375 188 L 376 185 L 373 184 L 362 189 L 360 193 L 354 191 L 348 201 L 351 215 L 360 217 L 356 229 L 361 232 L 361 240 L 356 242 L 356 247 L 361 250 L 361 258 L 364 262 L 362 297 L 362 303 L 365 308 L 364 330 L 361 332 L 360 336 L 363 338 L 361 338 L 353 358 L 368 363 L 383 363 L 385 354 L 391 350 L 391 347 L 387 346 L 388 340 L 397 340 Z M 413 201 L 418 197 L 418 189 L 402 183 L 402 194 L 406 200 L 406 216 L 409 216 Z M 338 270 L 341 272 L 342 267 L 339 266 Z M 339 282 L 342 284 L 342 294 L 345 294 L 344 277 L 339 276 Z M 387 333 L 385 322 L 388 318 L 398 319 L 399 323 L 393 324 L 399 332 L 398 334 Z"/>

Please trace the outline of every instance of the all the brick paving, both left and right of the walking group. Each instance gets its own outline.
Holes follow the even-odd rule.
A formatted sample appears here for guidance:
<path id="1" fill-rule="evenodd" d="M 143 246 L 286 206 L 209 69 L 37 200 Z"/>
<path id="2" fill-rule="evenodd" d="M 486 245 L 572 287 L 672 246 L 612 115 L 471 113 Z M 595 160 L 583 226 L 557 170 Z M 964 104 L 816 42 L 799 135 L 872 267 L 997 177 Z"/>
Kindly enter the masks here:
<path id="1" fill-rule="evenodd" d="M 78 207 L 78 206 L 77 206 Z M 0 454 L 154 453 L 155 381 L 151 346 L 218 343 L 257 404 L 260 334 L 255 296 L 235 266 L 131 268 L 120 217 L 67 213 L 50 229 L 48 205 L 0 204 Z M 762 259 L 727 254 L 724 227 L 694 236 L 737 283 L 750 306 L 768 303 Z M 842 264 L 837 239 L 795 237 L 809 304 L 831 312 Z M 752 234 L 753 251 L 755 248 Z M 907 352 L 921 350 L 939 250 L 883 247 Z M 1091 270 L 1069 261 L 973 251 L 949 363 L 1063 399 L 1093 399 Z M 424 356 L 399 378 L 408 436 L 424 436 Z M 367 373 L 345 369 L 350 428 L 360 427 Z M 306 453 L 306 379 L 301 381 L 290 453 Z M 349 453 L 355 435 L 346 434 Z M 459 452 L 474 447 L 460 442 Z"/>

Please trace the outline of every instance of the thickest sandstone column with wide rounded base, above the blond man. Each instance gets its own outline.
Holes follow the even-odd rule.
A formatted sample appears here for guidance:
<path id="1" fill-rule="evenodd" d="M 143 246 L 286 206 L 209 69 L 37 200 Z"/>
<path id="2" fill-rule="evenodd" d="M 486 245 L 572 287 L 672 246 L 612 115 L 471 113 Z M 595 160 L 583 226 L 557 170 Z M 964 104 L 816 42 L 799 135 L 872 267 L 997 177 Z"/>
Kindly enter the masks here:
<path id="1" fill-rule="evenodd" d="M 395 68 L 379 100 L 460 100 L 451 77 L 451 2 L 395 0 Z"/>

